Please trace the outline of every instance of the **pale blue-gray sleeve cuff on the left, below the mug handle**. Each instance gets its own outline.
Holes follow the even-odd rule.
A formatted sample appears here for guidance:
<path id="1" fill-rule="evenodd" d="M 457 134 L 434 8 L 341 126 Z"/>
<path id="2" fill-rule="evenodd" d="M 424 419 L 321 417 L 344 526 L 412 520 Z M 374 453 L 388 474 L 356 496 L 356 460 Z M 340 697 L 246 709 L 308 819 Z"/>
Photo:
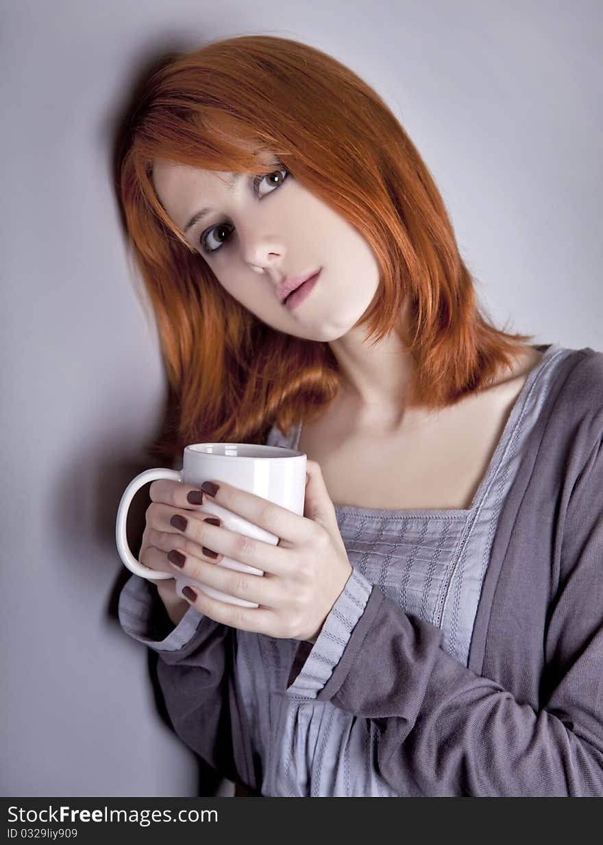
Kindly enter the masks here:
<path id="1" fill-rule="evenodd" d="M 139 575 L 132 575 L 123 587 L 117 616 L 126 634 L 154 651 L 178 651 L 186 646 L 193 639 L 199 622 L 204 619 L 202 613 L 190 607 L 179 624 L 172 625 L 170 633 L 164 637 L 166 610 L 163 602 L 157 595 L 155 584 Z"/>

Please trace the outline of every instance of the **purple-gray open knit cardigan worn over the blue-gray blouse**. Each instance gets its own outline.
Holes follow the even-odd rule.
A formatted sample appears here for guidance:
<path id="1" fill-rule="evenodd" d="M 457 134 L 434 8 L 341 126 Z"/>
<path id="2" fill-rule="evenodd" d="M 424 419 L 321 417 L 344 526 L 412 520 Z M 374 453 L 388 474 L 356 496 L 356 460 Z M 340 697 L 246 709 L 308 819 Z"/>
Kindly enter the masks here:
<path id="1" fill-rule="evenodd" d="M 561 363 L 502 506 L 468 666 L 437 627 L 372 587 L 317 701 L 377 725 L 379 770 L 396 792 L 603 794 L 602 441 L 603 354 L 586 348 Z M 173 625 L 155 586 L 137 581 L 176 733 L 258 789 L 236 632 L 191 608 L 193 636 L 163 649 Z M 297 647 L 287 688 L 311 650 Z"/>

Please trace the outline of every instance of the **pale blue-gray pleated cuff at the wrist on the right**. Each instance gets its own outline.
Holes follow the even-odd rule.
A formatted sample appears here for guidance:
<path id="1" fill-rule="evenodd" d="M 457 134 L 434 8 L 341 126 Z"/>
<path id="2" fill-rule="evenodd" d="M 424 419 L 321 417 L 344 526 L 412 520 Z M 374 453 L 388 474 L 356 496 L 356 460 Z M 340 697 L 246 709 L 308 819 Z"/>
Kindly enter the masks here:
<path id="1" fill-rule="evenodd" d="M 287 681 L 288 696 L 317 697 L 340 662 L 371 591 L 372 583 L 357 570 L 352 570 L 314 645 L 302 642 L 298 646 Z"/>

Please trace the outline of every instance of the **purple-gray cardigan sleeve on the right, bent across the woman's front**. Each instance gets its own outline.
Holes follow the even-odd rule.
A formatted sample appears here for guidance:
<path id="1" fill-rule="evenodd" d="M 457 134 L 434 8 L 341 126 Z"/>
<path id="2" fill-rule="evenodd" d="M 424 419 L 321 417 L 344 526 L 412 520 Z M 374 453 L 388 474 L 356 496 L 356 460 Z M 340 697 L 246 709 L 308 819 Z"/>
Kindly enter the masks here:
<path id="1" fill-rule="evenodd" d="M 603 794 L 601 491 L 599 441 L 560 517 L 551 597 L 534 598 L 535 607 L 548 602 L 538 710 L 450 657 L 437 627 L 372 588 L 339 662 L 314 695 L 374 720 L 379 770 L 399 794 L 408 793 L 409 779 L 416 793 L 429 795 Z M 528 566 L 529 541 L 524 548 Z M 497 645 L 513 654 L 513 638 L 521 636 L 509 625 L 508 641 Z"/>

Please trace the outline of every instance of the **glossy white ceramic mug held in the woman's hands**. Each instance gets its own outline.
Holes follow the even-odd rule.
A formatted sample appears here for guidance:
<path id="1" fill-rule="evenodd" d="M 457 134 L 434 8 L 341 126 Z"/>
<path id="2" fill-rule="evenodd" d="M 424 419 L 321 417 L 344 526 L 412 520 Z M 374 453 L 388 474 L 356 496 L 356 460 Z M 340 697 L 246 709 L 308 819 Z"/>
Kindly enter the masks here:
<path id="1" fill-rule="evenodd" d="M 176 578 L 176 591 L 182 598 L 182 587 L 188 585 L 207 593 L 211 597 L 220 599 L 221 602 L 238 604 L 243 608 L 257 608 L 258 605 L 254 602 L 228 596 L 226 593 L 201 584 L 186 575 L 151 570 L 134 558 L 128 547 L 126 537 L 128 508 L 139 488 L 144 484 L 155 481 L 157 478 L 169 478 L 171 481 L 184 482 L 195 487 L 201 487 L 204 481 L 223 481 L 233 487 L 246 490 L 247 493 L 254 493 L 256 496 L 261 496 L 262 499 L 268 499 L 274 504 L 279 504 L 282 508 L 292 510 L 294 514 L 303 516 L 306 493 L 306 455 L 303 452 L 283 449 L 280 446 L 251 443 L 190 444 L 184 449 L 180 472 L 166 468 L 141 472 L 133 478 L 124 490 L 122 500 L 117 508 L 115 529 L 117 551 L 123 563 L 134 575 L 156 581 Z M 222 525 L 229 531 L 245 534 L 247 537 L 253 537 L 254 540 L 269 542 L 273 546 L 279 542 L 279 537 L 275 537 L 274 534 L 244 520 L 242 516 L 232 513 L 231 510 L 221 508 L 219 504 L 209 501 L 209 497 L 206 495 L 204 495 L 202 510 L 219 516 Z M 263 570 L 242 564 L 238 560 L 227 558 L 225 555 L 217 565 L 225 566 L 229 570 L 263 575 Z"/>

